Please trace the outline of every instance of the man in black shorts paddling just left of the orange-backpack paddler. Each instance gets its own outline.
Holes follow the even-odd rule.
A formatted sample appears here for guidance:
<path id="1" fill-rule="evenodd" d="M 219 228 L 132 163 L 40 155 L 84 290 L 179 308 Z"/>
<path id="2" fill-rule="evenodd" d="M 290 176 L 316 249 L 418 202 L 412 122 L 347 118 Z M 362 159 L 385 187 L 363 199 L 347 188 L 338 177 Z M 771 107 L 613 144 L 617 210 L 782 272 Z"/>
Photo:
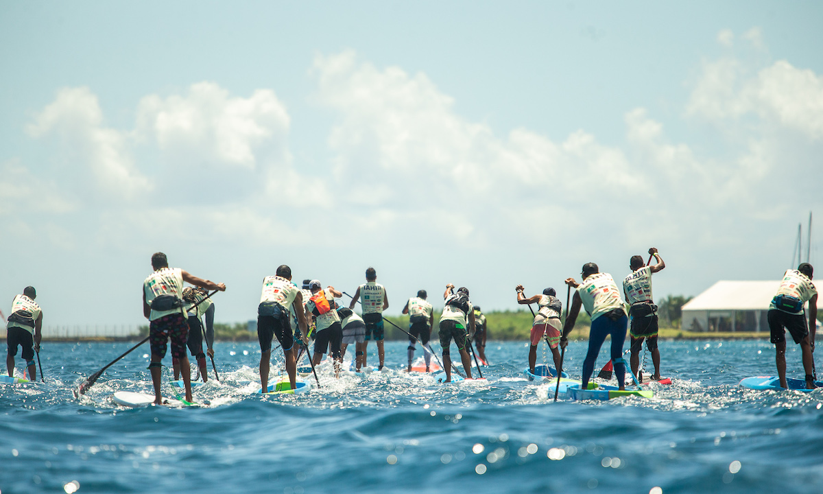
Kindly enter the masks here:
<path id="1" fill-rule="evenodd" d="M 268 390 L 268 367 L 272 357 L 272 338 L 275 336 L 277 336 L 277 341 L 280 342 L 283 349 L 283 357 L 286 360 L 286 374 L 289 375 L 291 389 L 297 387 L 295 340 L 289 324 L 289 310 L 292 308 L 295 310 L 298 329 L 302 332 L 298 336 L 308 347 L 309 338 L 305 336 L 307 326 L 303 309 L 303 294 L 300 293 L 297 285 L 291 282 L 291 268 L 286 264 L 282 264 L 277 268 L 274 276 L 263 278 L 263 293 L 260 295 L 260 304 L 258 305 L 260 389 L 263 390 L 263 393 Z"/>

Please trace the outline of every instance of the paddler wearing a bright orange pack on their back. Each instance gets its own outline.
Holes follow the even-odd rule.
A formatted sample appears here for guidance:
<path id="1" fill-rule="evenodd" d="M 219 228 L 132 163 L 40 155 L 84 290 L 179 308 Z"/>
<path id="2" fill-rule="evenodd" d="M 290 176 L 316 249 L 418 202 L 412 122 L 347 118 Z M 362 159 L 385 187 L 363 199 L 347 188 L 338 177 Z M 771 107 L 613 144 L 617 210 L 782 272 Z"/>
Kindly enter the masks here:
<path id="1" fill-rule="evenodd" d="M 316 320 L 316 333 L 314 334 L 314 365 L 319 365 L 323 360 L 323 354 L 328 350 L 329 356 L 334 360 L 334 375 L 340 377 L 340 344 L 343 339 L 343 329 L 340 324 L 340 316 L 334 310 L 334 299 L 343 296 L 341 291 L 337 291 L 332 286 L 321 288 L 318 280 L 309 282 L 311 298 L 306 304 L 306 318 L 314 315 Z"/>

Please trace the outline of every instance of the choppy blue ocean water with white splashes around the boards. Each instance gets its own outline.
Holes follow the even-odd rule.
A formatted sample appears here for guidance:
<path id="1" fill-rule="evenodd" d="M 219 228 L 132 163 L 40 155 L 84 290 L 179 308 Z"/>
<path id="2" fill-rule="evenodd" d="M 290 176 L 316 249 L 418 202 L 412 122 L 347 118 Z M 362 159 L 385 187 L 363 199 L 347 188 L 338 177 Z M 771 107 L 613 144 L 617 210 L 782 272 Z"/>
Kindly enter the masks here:
<path id="1" fill-rule="evenodd" d="M 115 391 L 151 392 L 146 345 L 74 398 L 132 345 L 45 343 L 45 384 L 0 384 L 0 492 L 823 492 L 823 391 L 737 385 L 774 375 L 767 341 L 661 342 L 674 384 L 652 399 L 553 403 L 522 377 L 525 343 L 494 342 L 485 382 L 399 372 L 393 342 L 393 370 L 335 380 L 324 365 L 321 388 L 291 396 L 253 394 L 257 343 L 218 342 L 221 382 L 194 392 L 208 406 L 118 407 Z M 566 351 L 572 377 L 585 350 Z M 788 375 L 802 378 L 797 346 Z"/>

